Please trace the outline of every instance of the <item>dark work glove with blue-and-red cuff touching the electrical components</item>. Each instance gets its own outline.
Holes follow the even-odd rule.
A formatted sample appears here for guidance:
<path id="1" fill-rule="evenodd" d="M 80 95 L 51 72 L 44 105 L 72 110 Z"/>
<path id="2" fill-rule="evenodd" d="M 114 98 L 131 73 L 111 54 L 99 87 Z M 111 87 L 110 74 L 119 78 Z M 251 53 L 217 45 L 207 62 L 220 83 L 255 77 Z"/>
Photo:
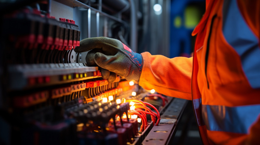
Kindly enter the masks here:
<path id="1" fill-rule="evenodd" d="M 133 52 L 117 39 L 107 37 L 86 38 L 80 41 L 75 52 L 89 51 L 86 56 L 88 66 L 100 66 L 103 79 L 112 83 L 116 74 L 126 80 L 139 81 L 143 58 L 139 53 Z"/>

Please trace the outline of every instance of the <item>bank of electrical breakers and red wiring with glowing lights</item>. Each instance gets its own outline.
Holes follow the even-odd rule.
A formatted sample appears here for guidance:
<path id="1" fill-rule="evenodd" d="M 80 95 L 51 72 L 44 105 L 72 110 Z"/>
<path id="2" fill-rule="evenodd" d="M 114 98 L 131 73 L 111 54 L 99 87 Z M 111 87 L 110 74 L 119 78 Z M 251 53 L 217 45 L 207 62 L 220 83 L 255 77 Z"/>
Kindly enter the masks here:
<path id="1" fill-rule="evenodd" d="M 108 83 L 75 52 L 72 61 L 80 45 L 75 21 L 24 9 L 2 25 L 1 144 L 141 144 L 158 126 L 171 98 L 120 76 Z"/>

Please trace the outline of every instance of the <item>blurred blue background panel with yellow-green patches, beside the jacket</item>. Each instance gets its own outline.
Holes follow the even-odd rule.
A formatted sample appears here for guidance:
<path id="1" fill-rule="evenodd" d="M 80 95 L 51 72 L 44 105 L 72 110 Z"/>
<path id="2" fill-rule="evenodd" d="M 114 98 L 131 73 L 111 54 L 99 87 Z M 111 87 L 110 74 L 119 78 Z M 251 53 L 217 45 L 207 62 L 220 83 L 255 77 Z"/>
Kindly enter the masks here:
<path id="1" fill-rule="evenodd" d="M 194 17 L 190 16 L 187 19 L 187 13 L 185 14 L 185 12 L 187 12 L 187 8 L 189 6 L 195 8 L 196 6 L 199 6 L 198 9 L 203 11 L 203 9 L 205 9 L 206 7 L 205 0 L 172 0 L 171 1 L 170 58 L 177 57 L 177 56 L 190 57 L 190 54 L 192 52 L 191 32 L 195 28 L 196 24 L 194 25 L 194 27 L 191 27 L 191 25 L 187 26 L 187 23 L 194 23 L 194 21 L 197 21 L 197 19 L 199 20 L 200 18 L 194 19 Z M 201 7 L 203 9 L 201 9 Z M 196 10 L 194 10 L 194 12 L 200 13 Z"/>

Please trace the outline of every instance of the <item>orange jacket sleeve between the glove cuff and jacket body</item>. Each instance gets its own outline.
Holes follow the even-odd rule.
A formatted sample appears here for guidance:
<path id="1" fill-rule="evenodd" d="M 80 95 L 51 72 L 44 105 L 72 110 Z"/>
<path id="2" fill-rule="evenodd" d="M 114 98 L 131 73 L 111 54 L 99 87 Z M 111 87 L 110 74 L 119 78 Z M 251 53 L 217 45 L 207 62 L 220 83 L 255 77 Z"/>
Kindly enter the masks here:
<path id="1" fill-rule="evenodd" d="M 139 85 L 146 90 L 171 97 L 191 100 L 192 57 L 167 58 L 162 55 L 141 53 L 143 69 Z"/>

